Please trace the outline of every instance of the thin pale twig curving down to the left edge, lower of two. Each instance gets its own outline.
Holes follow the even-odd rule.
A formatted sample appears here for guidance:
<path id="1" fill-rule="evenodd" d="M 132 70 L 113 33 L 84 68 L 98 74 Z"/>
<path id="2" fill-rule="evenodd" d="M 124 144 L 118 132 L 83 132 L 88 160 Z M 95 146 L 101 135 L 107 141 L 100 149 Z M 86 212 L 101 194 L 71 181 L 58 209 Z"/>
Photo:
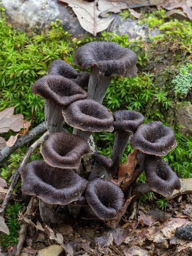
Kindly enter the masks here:
<path id="1" fill-rule="evenodd" d="M 30 146 L 30 148 L 28 148 L 28 151 L 26 152 L 26 155 L 24 156 L 24 159 L 22 160 L 20 166 L 18 167 L 18 170 L 15 172 L 15 174 L 13 176 L 13 180 L 11 182 L 11 185 L 10 185 L 10 187 L 7 191 L 7 194 L 5 195 L 5 199 L 3 200 L 3 203 L 1 205 L 1 209 L 0 209 L 1 216 L 4 216 L 5 209 L 7 207 L 7 204 L 9 203 L 9 200 L 11 198 L 13 190 L 15 189 L 16 185 L 18 184 L 18 181 L 20 180 L 19 172 L 22 170 L 22 168 L 24 168 L 24 166 L 28 162 L 28 159 L 30 158 L 32 152 L 34 152 L 34 150 L 36 150 L 36 148 L 38 148 L 40 146 L 40 144 L 43 143 L 43 141 L 45 141 L 47 139 L 48 136 L 49 136 L 49 132 L 46 131 L 46 133 L 44 133 L 39 139 L 37 139 L 32 144 L 32 146 Z"/>

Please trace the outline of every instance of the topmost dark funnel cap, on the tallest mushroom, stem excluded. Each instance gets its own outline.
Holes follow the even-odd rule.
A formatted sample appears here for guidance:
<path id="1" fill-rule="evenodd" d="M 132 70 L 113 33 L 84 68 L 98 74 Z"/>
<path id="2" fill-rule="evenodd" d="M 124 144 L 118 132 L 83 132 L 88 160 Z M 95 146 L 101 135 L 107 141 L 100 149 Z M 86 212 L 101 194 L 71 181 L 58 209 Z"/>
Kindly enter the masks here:
<path id="1" fill-rule="evenodd" d="M 89 42 L 75 52 L 73 63 L 82 69 L 97 65 L 106 76 L 134 77 L 137 55 L 114 42 Z"/>

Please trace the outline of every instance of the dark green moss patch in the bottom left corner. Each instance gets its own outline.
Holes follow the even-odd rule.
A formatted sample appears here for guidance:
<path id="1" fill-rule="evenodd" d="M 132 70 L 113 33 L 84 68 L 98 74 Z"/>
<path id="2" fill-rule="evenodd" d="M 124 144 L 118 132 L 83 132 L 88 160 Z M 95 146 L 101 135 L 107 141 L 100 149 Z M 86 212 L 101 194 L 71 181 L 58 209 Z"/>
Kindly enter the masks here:
<path id="1" fill-rule="evenodd" d="M 0 234 L 0 245 L 3 247 L 10 247 L 17 245 L 18 235 L 20 232 L 20 225 L 18 224 L 18 214 L 24 209 L 24 205 L 15 202 L 13 205 L 8 205 L 5 212 L 5 219 L 9 228 L 9 236 L 7 234 Z"/>

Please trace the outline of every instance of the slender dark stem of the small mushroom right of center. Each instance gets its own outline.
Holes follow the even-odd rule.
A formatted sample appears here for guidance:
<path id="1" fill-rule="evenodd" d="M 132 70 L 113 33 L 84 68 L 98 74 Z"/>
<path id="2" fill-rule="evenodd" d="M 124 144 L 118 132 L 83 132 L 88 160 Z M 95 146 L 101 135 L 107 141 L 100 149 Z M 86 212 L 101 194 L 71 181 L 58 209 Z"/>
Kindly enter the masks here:
<path id="1" fill-rule="evenodd" d="M 129 131 L 116 131 L 115 132 L 115 141 L 113 144 L 112 154 L 110 159 L 113 160 L 113 166 L 110 168 L 110 173 L 113 175 L 117 174 L 123 152 L 127 147 L 129 141 L 129 136 L 131 133 Z"/>

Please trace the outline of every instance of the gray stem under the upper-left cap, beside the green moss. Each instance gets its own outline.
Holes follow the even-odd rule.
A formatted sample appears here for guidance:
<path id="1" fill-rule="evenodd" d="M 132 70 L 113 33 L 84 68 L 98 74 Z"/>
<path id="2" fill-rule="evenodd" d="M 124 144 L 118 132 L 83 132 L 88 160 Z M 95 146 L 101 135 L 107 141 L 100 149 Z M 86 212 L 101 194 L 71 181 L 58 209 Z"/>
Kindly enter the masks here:
<path id="1" fill-rule="evenodd" d="M 49 134 L 60 133 L 65 131 L 63 124 L 65 123 L 62 115 L 63 106 L 55 104 L 52 100 L 45 99 L 44 117 L 46 120 L 46 128 Z"/>

